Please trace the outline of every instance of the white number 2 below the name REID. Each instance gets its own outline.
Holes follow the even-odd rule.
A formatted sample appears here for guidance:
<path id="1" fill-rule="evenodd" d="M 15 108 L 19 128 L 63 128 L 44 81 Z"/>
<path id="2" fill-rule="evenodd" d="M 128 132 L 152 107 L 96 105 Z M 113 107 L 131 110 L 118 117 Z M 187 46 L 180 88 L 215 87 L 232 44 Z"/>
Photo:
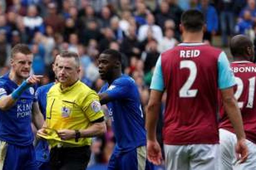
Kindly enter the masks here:
<path id="1" fill-rule="evenodd" d="M 183 60 L 180 63 L 180 69 L 183 69 L 183 68 L 188 68 L 190 73 L 187 81 L 184 83 L 184 85 L 180 89 L 179 96 L 182 98 L 196 97 L 198 90 L 190 89 L 190 88 L 196 79 L 197 66 L 193 61 Z"/>

